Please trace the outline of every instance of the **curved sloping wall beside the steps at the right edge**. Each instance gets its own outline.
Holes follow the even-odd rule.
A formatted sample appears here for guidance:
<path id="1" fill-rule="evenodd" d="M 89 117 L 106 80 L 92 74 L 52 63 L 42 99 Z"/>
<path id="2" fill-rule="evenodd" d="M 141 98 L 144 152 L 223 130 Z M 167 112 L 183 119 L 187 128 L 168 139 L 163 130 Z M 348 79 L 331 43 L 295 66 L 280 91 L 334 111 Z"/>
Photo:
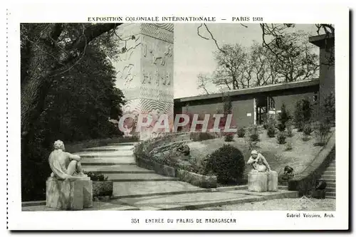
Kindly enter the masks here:
<path id="1" fill-rule="evenodd" d="M 316 181 L 320 179 L 333 159 L 335 159 L 335 132 L 333 132 L 328 143 L 315 157 L 313 162 L 303 172 L 288 181 L 288 190 L 298 191 L 299 196 L 309 194 L 314 189 Z"/>

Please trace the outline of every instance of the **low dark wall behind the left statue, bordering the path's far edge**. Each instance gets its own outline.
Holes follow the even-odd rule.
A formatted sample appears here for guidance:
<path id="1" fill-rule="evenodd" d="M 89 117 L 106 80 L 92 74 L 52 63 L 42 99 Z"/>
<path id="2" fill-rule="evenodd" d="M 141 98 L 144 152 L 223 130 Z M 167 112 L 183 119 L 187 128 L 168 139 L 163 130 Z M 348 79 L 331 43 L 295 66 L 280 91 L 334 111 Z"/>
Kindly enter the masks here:
<path id="1" fill-rule="evenodd" d="M 95 139 L 85 142 L 78 142 L 72 144 L 65 144 L 67 152 L 79 152 L 81 149 L 89 147 L 102 147 L 110 143 L 120 143 L 120 142 L 137 142 L 137 139 L 132 137 L 115 137 L 115 138 L 105 138 L 105 139 Z"/>

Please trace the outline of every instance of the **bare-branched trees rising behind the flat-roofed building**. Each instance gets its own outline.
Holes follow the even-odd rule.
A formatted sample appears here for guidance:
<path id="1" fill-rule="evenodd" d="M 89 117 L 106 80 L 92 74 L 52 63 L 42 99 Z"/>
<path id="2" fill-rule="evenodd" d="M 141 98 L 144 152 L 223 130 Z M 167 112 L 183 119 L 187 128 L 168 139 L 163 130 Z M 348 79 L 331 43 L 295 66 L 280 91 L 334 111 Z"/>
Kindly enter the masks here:
<path id="1" fill-rule="evenodd" d="M 318 55 L 314 53 L 316 46 L 308 42 L 307 34 L 284 31 L 288 27 L 279 24 L 261 26 L 266 29 L 263 43 L 255 41 L 251 48 L 239 43 L 218 47 L 214 52 L 218 64 L 214 73 L 198 75 L 198 88 L 203 93 L 209 94 L 206 88 L 210 83 L 221 90 L 239 90 L 315 78 L 319 69 Z M 270 34 L 272 38 L 268 37 Z"/>

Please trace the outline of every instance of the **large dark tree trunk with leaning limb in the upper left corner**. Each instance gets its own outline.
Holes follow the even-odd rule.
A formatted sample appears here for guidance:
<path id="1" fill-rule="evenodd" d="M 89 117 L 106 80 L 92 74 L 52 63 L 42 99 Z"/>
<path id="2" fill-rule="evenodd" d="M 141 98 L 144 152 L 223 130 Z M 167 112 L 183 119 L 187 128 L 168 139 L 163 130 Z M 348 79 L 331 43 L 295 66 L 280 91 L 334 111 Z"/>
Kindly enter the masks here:
<path id="1" fill-rule="evenodd" d="M 88 44 L 120 23 L 21 24 L 21 135 L 31 133 L 54 78 L 68 72 Z"/>

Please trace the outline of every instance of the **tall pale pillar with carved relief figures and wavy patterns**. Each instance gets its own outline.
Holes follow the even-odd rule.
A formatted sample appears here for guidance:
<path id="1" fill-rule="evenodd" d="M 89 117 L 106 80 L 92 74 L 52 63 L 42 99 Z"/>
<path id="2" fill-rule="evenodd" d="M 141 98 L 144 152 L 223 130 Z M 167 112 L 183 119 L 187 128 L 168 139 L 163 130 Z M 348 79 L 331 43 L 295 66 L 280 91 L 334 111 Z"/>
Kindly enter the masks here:
<path id="1" fill-rule="evenodd" d="M 173 29 L 172 23 L 127 23 L 116 31 L 121 41 L 119 58 L 113 65 L 116 86 L 127 100 L 123 111 L 137 118 L 148 115 L 152 120 L 140 129 L 140 139 L 164 132 L 153 131 L 161 115 L 167 115 L 169 128 L 173 126 Z M 133 123 L 126 122 L 125 126 L 132 128 Z"/>

